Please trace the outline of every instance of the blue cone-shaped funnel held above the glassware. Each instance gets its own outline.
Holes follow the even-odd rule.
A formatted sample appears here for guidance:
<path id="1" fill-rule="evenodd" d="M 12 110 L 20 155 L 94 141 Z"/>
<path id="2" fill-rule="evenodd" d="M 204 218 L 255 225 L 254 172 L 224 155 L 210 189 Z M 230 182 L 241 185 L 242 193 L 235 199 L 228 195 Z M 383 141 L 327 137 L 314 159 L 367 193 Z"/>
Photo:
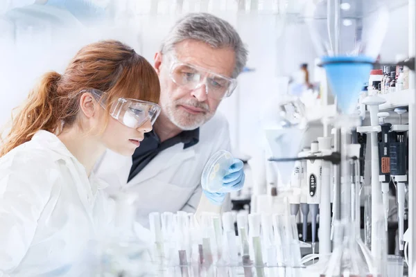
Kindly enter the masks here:
<path id="1" fill-rule="evenodd" d="M 367 56 L 322 57 L 322 66 L 337 105 L 343 114 L 351 114 L 373 68 L 374 58 Z"/>

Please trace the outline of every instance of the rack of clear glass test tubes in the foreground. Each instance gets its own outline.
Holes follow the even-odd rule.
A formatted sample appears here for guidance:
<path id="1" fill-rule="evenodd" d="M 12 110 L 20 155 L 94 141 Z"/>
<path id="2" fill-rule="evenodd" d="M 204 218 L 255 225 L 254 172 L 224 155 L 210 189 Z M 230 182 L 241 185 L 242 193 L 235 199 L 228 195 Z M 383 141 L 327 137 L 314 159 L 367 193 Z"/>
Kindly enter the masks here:
<path id="1" fill-rule="evenodd" d="M 149 220 L 152 262 L 166 276 L 301 276 L 292 215 L 178 211 Z"/>

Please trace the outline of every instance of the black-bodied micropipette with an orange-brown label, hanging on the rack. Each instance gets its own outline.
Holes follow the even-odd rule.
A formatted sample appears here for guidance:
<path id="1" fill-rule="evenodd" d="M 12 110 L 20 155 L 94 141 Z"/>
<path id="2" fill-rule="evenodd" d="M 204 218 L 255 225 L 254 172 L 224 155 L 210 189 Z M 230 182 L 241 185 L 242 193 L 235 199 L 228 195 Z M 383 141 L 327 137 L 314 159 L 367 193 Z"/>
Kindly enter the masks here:
<path id="1" fill-rule="evenodd" d="M 381 123 L 381 140 L 379 141 L 379 180 L 381 182 L 381 192 L 383 193 L 385 231 L 388 229 L 388 211 L 389 211 L 389 184 L 390 184 L 390 123 L 385 123 L 388 112 L 377 114 Z"/>

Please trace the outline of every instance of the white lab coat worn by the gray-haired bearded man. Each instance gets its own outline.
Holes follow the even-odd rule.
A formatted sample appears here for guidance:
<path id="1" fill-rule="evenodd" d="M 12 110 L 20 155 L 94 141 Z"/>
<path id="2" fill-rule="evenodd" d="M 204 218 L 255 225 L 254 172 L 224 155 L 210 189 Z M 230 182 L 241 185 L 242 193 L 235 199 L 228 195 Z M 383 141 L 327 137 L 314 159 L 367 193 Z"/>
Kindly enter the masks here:
<path id="1" fill-rule="evenodd" d="M 200 179 L 205 164 L 218 150 L 230 150 L 227 119 L 217 113 L 200 127 L 199 142 L 183 148 L 184 144 L 178 143 L 163 150 L 129 182 L 132 158 L 109 150 L 98 161 L 95 172 L 110 185 L 108 193 L 121 190 L 137 195 L 137 221 L 146 227 L 148 214 L 154 211 L 196 211 L 202 194 Z M 223 211 L 229 208 L 227 197 Z"/>

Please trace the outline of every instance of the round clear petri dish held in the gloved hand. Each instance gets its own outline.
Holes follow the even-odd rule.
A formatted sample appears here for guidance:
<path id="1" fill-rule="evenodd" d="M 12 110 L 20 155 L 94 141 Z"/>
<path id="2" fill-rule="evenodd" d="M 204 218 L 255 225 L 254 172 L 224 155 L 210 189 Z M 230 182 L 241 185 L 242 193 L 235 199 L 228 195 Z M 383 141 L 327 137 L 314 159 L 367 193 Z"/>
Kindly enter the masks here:
<path id="1" fill-rule="evenodd" d="M 220 150 L 212 155 L 202 171 L 202 188 L 210 193 L 220 192 L 223 186 L 223 177 L 227 175 L 227 170 L 233 160 L 232 154 L 225 150 Z"/>

